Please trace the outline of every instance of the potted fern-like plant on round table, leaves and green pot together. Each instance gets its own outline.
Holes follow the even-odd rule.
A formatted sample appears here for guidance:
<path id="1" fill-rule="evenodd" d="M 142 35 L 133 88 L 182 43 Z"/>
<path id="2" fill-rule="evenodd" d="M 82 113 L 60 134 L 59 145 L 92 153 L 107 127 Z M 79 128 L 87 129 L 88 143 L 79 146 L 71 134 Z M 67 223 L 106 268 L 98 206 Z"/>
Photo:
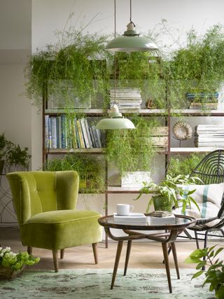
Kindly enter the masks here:
<path id="1" fill-rule="evenodd" d="M 151 204 L 154 204 L 155 211 L 172 211 L 172 208 L 179 207 L 182 205 L 182 212 L 186 211 L 187 205 L 190 206 L 191 202 L 196 205 L 197 209 L 200 208 L 197 202 L 191 197 L 195 190 L 184 190 L 181 185 L 187 183 L 195 183 L 196 180 L 200 180 L 197 177 L 189 176 L 169 176 L 167 175 L 164 180 L 159 184 L 150 182 L 144 182 L 144 187 L 141 188 L 139 196 L 136 198 L 138 200 L 143 194 L 154 194 L 148 202 L 146 213 L 148 213 Z"/>

